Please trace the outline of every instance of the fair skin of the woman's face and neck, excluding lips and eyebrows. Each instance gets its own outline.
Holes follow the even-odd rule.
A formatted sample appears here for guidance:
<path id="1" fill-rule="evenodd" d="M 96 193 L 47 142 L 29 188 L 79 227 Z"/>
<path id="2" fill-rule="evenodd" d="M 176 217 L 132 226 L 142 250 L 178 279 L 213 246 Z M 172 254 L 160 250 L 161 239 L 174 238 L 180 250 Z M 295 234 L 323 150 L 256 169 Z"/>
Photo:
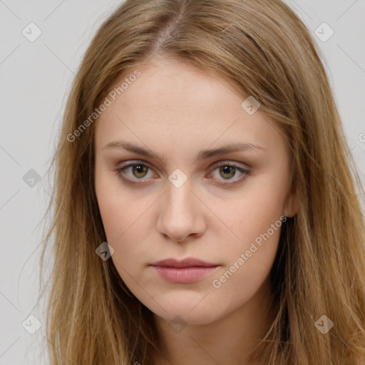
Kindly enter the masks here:
<path id="1" fill-rule="evenodd" d="M 96 122 L 96 196 L 111 259 L 155 314 L 162 339 L 155 364 L 245 364 L 269 321 L 268 274 L 280 229 L 219 288 L 212 281 L 282 215 L 297 212 L 287 144 L 260 110 L 249 115 L 241 107 L 247 96 L 227 81 L 163 58 L 138 69 L 141 75 Z M 163 160 L 104 148 L 115 140 L 148 148 Z M 197 159 L 200 150 L 235 142 L 262 149 Z M 220 161 L 250 173 L 220 171 Z M 115 171 L 128 162 L 147 164 L 145 170 L 124 170 L 136 185 Z M 175 169 L 187 178 L 180 187 L 168 179 Z M 150 266 L 170 257 L 219 267 L 197 282 L 171 283 Z M 184 320 L 180 331 L 169 325 L 176 316 Z"/>

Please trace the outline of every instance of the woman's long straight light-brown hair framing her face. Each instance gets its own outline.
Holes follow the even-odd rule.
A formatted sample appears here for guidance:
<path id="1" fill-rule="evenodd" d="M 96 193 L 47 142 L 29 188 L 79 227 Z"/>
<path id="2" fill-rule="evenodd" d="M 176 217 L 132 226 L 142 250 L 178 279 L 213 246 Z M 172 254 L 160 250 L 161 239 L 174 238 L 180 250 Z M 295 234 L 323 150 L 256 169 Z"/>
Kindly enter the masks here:
<path id="1" fill-rule="evenodd" d="M 153 313 L 113 261 L 96 255 L 106 235 L 94 189 L 93 113 L 122 76 L 157 55 L 253 96 L 289 145 L 299 212 L 282 227 L 270 272 L 273 321 L 250 364 L 364 364 L 364 190 L 317 43 L 279 0 L 127 0 L 94 36 L 51 162 L 52 222 L 41 254 L 42 270 L 47 248 L 53 258 L 51 364 L 153 364 Z M 325 334 L 316 325 L 322 316 L 334 324 Z"/>

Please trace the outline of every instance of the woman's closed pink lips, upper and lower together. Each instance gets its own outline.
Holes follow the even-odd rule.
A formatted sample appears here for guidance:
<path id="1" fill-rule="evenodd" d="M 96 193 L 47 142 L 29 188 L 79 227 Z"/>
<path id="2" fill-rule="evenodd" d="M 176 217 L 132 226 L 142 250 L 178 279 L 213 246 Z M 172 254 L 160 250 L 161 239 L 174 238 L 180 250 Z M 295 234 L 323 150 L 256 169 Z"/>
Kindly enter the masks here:
<path id="1" fill-rule="evenodd" d="M 168 282 L 187 284 L 197 282 L 220 265 L 187 257 L 180 261 L 177 259 L 164 259 L 155 262 L 151 266 L 155 267 L 158 274 Z"/>

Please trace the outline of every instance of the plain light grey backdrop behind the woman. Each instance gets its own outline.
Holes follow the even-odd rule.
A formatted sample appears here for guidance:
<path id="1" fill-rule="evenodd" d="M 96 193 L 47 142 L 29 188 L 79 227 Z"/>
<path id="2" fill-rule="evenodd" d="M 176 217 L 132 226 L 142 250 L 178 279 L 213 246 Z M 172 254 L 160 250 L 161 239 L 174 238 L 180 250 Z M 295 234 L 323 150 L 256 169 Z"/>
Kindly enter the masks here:
<path id="1" fill-rule="evenodd" d="M 48 364 L 40 347 L 46 342 L 45 310 L 34 309 L 39 255 L 31 255 L 51 198 L 42 179 L 74 72 L 96 29 L 120 2 L 0 0 L 0 365 Z M 364 184 L 365 1 L 286 2 L 322 49 Z M 331 29 L 327 41 L 316 36 L 327 38 Z M 29 40 L 37 31 L 41 35 Z M 41 324 L 34 334 L 26 330 L 26 324 L 38 323 L 31 315 Z"/>

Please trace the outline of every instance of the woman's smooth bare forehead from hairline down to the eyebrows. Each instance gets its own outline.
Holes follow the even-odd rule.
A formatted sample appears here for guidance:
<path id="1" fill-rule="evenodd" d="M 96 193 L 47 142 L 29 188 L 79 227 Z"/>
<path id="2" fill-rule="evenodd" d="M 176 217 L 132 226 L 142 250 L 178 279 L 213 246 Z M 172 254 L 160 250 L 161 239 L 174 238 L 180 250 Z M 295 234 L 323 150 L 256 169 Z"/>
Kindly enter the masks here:
<path id="1" fill-rule="evenodd" d="M 155 149 L 160 141 L 176 148 L 195 145 L 200 150 L 215 141 L 274 142 L 273 123 L 259 110 L 248 114 L 242 108 L 247 96 L 223 78 L 163 59 L 136 69 L 140 76 L 133 78 L 98 118 L 97 145 L 121 138 L 139 144 L 143 140 Z M 125 78 L 128 73 L 116 85 Z"/>

